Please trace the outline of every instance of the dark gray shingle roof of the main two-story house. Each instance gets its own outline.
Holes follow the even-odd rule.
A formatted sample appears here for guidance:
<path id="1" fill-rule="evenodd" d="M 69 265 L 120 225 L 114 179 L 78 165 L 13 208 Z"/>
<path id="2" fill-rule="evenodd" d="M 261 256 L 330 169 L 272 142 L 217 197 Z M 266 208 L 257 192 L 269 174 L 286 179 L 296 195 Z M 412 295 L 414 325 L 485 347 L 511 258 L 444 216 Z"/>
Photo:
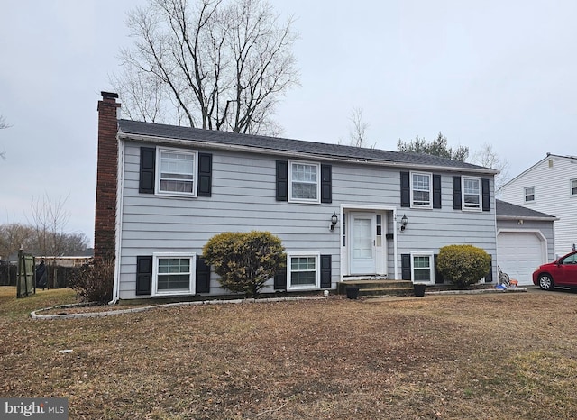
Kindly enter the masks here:
<path id="1" fill-rule="evenodd" d="M 235 132 L 219 132 L 214 130 L 202 130 L 198 128 L 180 127 L 159 123 L 142 123 L 131 120 L 118 120 L 120 131 L 124 134 L 152 136 L 166 139 L 190 140 L 200 142 L 213 142 L 223 145 L 243 146 L 270 151 L 286 151 L 309 153 L 323 156 L 326 159 L 347 159 L 374 162 L 407 163 L 410 165 L 436 166 L 450 169 L 486 169 L 487 173 L 494 173 L 494 169 L 482 168 L 471 163 L 439 158 L 419 153 L 406 153 L 399 151 L 381 151 L 378 149 L 365 149 L 341 144 L 304 142 L 300 140 L 282 139 L 261 135 L 238 134 Z"/>

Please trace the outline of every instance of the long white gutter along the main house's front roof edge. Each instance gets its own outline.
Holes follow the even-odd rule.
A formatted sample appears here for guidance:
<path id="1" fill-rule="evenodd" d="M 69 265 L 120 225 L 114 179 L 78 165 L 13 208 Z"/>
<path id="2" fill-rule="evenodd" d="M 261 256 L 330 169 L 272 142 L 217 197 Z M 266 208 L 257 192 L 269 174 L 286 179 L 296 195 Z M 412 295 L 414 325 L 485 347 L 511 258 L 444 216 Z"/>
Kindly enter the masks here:
<path id="1" fill-rule="evenodd" d="M 209 149 L 216 149 L 216 150 L 223 150 L 223 151 L 251 151 L 253 153 L 261 153 L 261 154 L 268 154 L 268 155 L 275 155 L 275 156 L 284 156 L 289 158 L 294 157 L 302 157 L 302 158 L 315 158 L 315 159 L 323 159 L 323 160 L 333 160 L 337 162 L 344 162 L 344 163 L 362 163 L 366 165 L 377 165 L 389 168 L 408 168 L 408 169 L 430 169 L 430 170 L 439 170 L 443 169 L 447 172 L 471 172 L 476 174 L 490 174 L 490 175 L 497 175 L 499 170 L 497 169 L 475 169 L 475 168 L 454 168 L 454 167 L 445 167 L 445 166 L 437 166 L 437 165 L 426 165 L 426 164 L 416 164 L 416 163 L 405 163 L 405 162 L 395 162 L 395 161 L 388 161 L 388 160 L 366 160 L 366 159 L 354 159 L 354 158 L 341 158 L 332 155 L 324 155 L 319 153 L 307 153 L 303 151 L 279 151 L 275 149 L 267 149 L 257 146 L 242 146 L 238 144 L 223 144 L 217 142 L 206 142 L 206 141 L 198 141 L 198 140 L 183 140 L 183 139 L 170 139 L 167 137 L 159 137 L 159 136 L 151 136 L 151 135 L 142 135 L 142 134 L 129 134 L 124 132 L 118 132 L 118 138 L 122 140 L 133 140 L 136 142 L 153 142 L 153 143 L 167 143 L 177 146 L 197 146 Z"/>

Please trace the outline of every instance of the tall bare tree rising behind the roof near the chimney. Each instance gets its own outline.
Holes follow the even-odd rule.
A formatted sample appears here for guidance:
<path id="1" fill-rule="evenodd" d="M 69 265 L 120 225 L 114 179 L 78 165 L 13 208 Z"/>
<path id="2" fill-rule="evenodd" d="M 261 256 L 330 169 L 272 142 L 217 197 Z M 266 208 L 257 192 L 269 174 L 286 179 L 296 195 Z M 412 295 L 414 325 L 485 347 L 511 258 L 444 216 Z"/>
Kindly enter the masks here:
<path id="1" fill-rule="evenodd" d="M 275 105 L 298 84 L 295 35 L 266 0 L 150 0 L 127 24 L 135 42 L 112 83 L 131 118 L 279 131 Z"/>

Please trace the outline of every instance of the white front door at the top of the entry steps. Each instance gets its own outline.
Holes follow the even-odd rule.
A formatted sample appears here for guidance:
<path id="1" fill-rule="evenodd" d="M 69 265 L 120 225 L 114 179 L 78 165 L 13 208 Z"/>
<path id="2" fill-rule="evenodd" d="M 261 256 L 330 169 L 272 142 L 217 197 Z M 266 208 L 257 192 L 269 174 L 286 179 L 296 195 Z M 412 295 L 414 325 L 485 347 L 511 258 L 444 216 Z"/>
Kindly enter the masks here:
<path id="1" fill-rule="evenodd" d="M 375 274 L 375 224 L 376 215 L 352 213 L 350 261 L 351 274 Z"/>

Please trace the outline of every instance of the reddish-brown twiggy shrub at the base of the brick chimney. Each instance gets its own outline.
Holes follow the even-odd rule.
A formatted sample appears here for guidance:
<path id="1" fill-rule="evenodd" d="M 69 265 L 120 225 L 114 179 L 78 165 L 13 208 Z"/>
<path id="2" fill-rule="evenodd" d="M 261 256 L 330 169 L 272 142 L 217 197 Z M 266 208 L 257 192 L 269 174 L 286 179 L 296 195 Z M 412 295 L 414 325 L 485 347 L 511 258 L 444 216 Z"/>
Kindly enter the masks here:
<path id="1" fill-rule="evenodd" d="M 82 302 L 108 303 L 112 300 L 114 285 L 114 260 L 98 260 L 87 264 L 71 279 Z"/>

